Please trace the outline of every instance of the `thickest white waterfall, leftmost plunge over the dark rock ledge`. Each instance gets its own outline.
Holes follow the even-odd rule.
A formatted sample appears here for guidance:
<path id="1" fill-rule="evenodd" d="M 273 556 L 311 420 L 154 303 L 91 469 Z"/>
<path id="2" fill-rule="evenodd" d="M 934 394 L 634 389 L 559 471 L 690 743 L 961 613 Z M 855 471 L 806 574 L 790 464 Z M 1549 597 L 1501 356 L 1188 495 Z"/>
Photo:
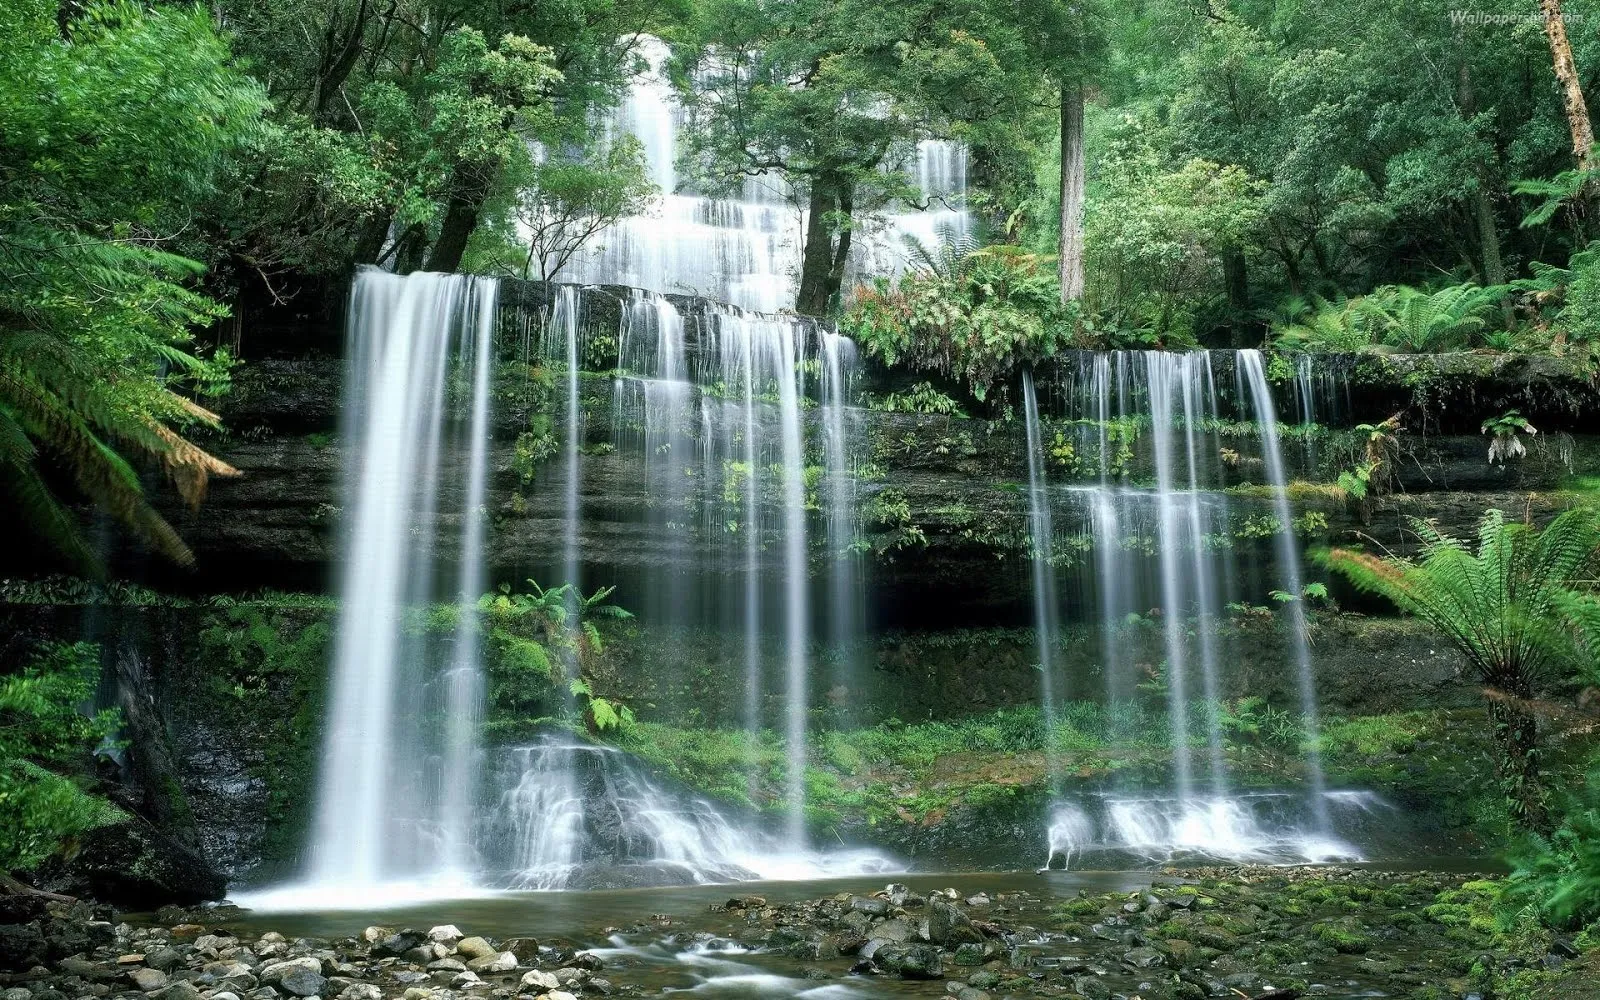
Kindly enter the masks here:
<path id="1" fill-rule="evenodd" d="M 315 885 L 373 886 L 474 864 L 469 803 L 482 690 L 474 608 L 485 584 L 496 291 L 493 280 L 437 274 L 362 270 L 355 278 L 339 619 L 310 840 Z M 470 376 L 470 402 L 458 408 L 446 387 L 451 341 Z M 461 467 L 446 467 L 446 411 L 462 410 L 467 446 L 453 450 Z M 456 483 L 464 493 L 453 491 Z M 403 619 L 443 597 L 434 555 L 450 518 L 459 523 L 458 581 L 446 592 L 458 622 L 445 659 L 408 635 Z M 427 725 L 440 715 L 443 725 Z"/>

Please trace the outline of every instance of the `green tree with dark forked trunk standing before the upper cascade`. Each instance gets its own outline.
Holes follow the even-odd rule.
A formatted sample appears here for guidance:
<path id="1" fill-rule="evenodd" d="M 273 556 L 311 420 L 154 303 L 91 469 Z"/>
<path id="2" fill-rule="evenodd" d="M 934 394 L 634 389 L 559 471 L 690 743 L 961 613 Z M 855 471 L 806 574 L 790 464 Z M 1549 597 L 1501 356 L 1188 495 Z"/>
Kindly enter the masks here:
<path id="1" fill-rule="evenodd" d="M 805 203 L 795 309 L 837 299 L 864 213 L 915 203 L 918 138 L 952 136 L 1003 93 L 962 5 L 714 0 L 686 46 L 694 173 L 728 187 L 782 174 Z M 693 83 L 690 86 L 690 83 Z"/>

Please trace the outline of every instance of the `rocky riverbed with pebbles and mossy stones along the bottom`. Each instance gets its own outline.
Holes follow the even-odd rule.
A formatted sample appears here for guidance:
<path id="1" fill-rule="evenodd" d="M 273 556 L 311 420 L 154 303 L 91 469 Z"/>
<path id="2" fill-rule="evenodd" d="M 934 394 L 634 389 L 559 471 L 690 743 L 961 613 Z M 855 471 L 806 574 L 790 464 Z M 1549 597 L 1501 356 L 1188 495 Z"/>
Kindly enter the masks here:
<path id="1" fill-rule="evenodd" d="M 888 885 L 770 904 L 734 888 L 693 917 L 549 941 L 454 925 L 296 938 L 246 930 L 261 918 L 229 906 L 125 920 L 8 899 L 0 1000 L 1600 995 L 1590 942 L 1498 925 L 1498 894 L 1469 875 L 1338 867 L 1165 872 L 1066 898 Z"/>

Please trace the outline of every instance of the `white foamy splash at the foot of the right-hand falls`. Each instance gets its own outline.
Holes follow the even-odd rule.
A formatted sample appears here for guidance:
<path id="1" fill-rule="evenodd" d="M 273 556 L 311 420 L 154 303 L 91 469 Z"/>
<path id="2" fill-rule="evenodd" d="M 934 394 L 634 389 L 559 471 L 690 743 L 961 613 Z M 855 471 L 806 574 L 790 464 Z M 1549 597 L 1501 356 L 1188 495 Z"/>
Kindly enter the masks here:
<path id="1" fill-rule="evenodd" d="M 1256 792 L 1224 797 L 1086 795 L 1056 803 L 1045 867 L 1085 864 L 1237 861 L 1326 864 L 1362 861 L 1350 842 L 1322 832 L 1330 816 L 1342 830 L 1362 830 L 1390 806 L 1373 792 Z"/>

